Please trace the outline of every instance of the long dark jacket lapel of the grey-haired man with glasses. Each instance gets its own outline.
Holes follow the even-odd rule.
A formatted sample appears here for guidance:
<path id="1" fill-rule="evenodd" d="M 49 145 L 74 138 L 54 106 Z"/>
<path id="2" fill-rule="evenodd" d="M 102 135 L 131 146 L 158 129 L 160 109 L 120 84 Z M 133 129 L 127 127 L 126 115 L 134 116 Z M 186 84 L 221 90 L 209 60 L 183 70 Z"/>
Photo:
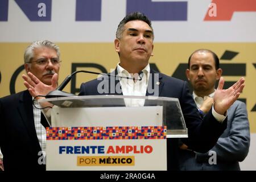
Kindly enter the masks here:
<path id="1" fill-rule="evenodd" d="M 27 132 L 28 135 L 30 135 L 31 140 L 39 144 L 38 137 L 36 136 L 35 131 L 32 97 L 28 90 L 24 91 L 23 94 L 20 94 L 18 110 L 22 117 L 22 121 L 27 128 Z"/>

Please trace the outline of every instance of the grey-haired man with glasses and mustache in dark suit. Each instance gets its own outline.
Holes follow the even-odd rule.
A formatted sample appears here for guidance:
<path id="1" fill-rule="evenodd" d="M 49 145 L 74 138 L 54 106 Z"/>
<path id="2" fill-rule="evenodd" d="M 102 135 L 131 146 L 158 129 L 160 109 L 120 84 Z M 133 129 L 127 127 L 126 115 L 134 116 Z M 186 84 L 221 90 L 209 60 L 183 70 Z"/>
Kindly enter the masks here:
<path id="1" fill-rule="evenodd" d="M 24 52 L 24 67 L 44 84 L 56 84 L 53 74 L 60 69 L 59 47 L 48 40 L 33 42 Z M 42 157 L 47 125 L 41 111 L 32 105 L 28 90 L 0 99 L 0 148 L 5 170 L 46 170 Z"/>

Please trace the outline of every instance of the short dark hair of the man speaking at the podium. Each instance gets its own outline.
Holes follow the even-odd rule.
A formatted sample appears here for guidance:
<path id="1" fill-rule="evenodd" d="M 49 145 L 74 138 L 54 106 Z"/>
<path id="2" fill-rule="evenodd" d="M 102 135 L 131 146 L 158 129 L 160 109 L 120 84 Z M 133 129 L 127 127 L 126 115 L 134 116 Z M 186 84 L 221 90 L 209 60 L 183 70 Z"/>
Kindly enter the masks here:
<path id="1" fill-rule="evenodd" d="M 144 15 L 143 13 L 138 12 L 138 11 L 127 14 L 125 16 L 125 18 L 123 18 L 121 20 L 121 22 L 118 24 L 117 32 L 115 32 L 115 37 L 117 39 L 120 39 L 122 37 L 122 33 L 123 33 L 123 30 L 124 30 L 125 24 L 127 22 L 132 21 L 132 20 L 142 20 L 143 22 L 146 22 L 148 24 L 148 26 L 150 26 L 150 28 L 152 29 L 152 34 L 153 34 L 153 39 L 154 39 L 154 31 L 153 31 L 153 28 L 151 26 L 151 20 L 148 19 L 148 17 L 146 15 Z"/>

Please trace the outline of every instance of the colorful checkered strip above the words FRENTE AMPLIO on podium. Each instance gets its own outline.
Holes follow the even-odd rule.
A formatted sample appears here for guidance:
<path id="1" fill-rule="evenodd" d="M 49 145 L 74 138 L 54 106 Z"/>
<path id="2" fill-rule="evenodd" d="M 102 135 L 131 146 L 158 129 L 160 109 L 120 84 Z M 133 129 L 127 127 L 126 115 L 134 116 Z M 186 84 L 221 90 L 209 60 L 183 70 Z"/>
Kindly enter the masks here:
<path id="1" fill-rule="evenodd" d="M 166 139 L 166 126 L 48 127 L 47 140 Z"/>

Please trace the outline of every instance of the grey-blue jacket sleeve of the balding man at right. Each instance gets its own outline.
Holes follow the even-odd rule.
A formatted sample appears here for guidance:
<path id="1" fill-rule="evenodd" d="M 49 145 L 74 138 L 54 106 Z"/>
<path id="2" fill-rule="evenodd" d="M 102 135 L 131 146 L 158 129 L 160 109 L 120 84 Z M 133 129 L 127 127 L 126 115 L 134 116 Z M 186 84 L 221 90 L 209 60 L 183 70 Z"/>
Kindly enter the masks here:
<path id="1" fill-rule="evenodd" d="M 216 145 L 211 149 L 215 151 L 218 160 L 241 162 L 247 156 L 250 146 L 250 127 L 247 118 L 246 105 L 237 102 L 228 110 L 230 130 L 226 137 L 220 137 Z M 209 158 L 209 152 L 196 153 L 197 161 Z"/>

